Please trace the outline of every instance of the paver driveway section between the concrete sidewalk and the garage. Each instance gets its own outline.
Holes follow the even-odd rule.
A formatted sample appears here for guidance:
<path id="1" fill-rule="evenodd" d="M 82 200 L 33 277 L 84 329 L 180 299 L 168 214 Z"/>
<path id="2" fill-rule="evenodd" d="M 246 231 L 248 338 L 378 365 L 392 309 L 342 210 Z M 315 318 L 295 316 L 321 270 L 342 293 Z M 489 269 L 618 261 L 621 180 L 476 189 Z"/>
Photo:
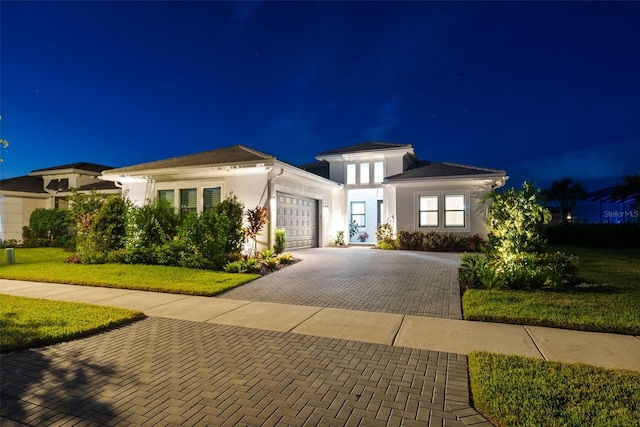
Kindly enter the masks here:
<path id="1" fill-rule="evenodd" d="M 304 262 L 220 296 L 462 319 L 459 254 L 349 247 L 304 249 L 294 255 Z"/>

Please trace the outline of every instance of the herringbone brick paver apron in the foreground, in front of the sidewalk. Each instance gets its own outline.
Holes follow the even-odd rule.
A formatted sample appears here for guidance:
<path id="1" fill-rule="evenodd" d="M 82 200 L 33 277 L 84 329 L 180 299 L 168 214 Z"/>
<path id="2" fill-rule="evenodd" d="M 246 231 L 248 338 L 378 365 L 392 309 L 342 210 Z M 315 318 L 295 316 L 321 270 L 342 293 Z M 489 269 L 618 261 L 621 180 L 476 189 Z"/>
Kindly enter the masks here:
<path id="1" fill-rule="evenodd" d="M 489 425 L 464 356 L 183 320 L 10 353 L 0 369 L 2 416 L 32 426 Z"/>

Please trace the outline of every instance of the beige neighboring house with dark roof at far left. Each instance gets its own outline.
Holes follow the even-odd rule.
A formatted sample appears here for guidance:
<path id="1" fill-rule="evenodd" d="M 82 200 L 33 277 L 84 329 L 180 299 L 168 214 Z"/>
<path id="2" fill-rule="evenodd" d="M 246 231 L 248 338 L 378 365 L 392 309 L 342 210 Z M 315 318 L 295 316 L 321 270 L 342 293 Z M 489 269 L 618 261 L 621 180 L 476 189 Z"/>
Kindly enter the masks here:
<path id="1" fill-rule="evenodd" d="M 29 225 L 37 208 L 66 208 L 66 198 L 81 193 L 119 194 L 112 182 L 100 180 L 109 166 L 72 163 L 31 171 L 29 175 L 0 180 L 0 240 L 22 240 L 22 227 Z"/>

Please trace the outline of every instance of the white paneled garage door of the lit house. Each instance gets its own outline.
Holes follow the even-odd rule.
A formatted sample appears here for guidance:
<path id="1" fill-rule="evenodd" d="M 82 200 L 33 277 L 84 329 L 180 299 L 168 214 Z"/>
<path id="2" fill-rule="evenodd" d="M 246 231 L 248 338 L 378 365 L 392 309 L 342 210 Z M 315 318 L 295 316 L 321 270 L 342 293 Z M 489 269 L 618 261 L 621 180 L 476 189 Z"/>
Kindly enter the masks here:
<path id="1" fill-rule="evenodd" d="M 278 193 L 278 228 L 287 230 L 287 249 L 318 246 L 318 201 Z"/>

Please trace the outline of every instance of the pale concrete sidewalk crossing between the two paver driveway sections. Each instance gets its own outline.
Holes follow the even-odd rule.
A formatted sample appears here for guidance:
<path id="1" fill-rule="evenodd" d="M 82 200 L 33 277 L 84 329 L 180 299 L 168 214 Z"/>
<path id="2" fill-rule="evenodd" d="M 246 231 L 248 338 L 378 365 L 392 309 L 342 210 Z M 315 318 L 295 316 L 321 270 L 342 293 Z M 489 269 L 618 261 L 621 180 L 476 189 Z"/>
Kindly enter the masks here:
<path id="1" fill-rule="evenodd" d="M 640 371 L 640 337 L 627 335 L 4 279 L 0 293 L 394 347 L 463 355 L 482 350 Z"/>

